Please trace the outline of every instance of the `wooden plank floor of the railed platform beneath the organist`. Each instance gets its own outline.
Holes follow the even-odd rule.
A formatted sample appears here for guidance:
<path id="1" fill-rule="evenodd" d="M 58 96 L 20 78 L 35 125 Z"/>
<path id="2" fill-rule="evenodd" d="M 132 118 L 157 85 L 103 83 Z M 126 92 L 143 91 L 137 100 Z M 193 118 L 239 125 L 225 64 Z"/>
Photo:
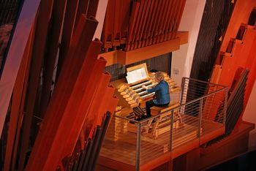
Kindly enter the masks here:
<path id="1" fill-rule="evenodd" d="M 189 121 L 191 121 L 191 116 Z M 197 118 L 195 118 L 195 121 Z M 196 122 L 195 122 L 196 123 Z M 206 142 L 214 137 L 217 137 L 224 132 L 224 126 L 220 123 L 212 121 L 203 121 L 202 129 L 200 130 L 200 140 Z M 140 167 L 147 165 L 150 167 L 151 161 L 156 161 L 161 156 L 172 156 L 172 158 L 187 153 L 193 148 L 197 148 L 203 142 L 198 138 L 199 127 L 183 123 L 179 130 L 173 130 L 172 152 L 170 152 L 170 131 L 160 134 L 154 138 L 152 134 L 142 132 L 140 141 Z M 129 164 L 135 167 L 136 161 L 136 137 L 133 132 L 119 133 L 119 138 L 116 141 L 106 137 L 102 145 L 100 156 L 102 159 L 111 159 L 112 164 L 107 167 L 115 169 L 115 165 Z M 168 155 L 168 153 L 170 155 Z M 170 157 L 168 160 L 170 160 Z M 168 158 L 168 157 L 167 157 Z M 102 161 L 102 159 L 100 161 Z M 99 163 L 100 164 L 100 163 Z M 105 165 L 105 164 L 102 164 Z M 154 164 L 155 165 L 155 164 Z M 157 166 L 154 166 L 157 167 Z M 154 168 L 153 166 L 151 168 Z"/>

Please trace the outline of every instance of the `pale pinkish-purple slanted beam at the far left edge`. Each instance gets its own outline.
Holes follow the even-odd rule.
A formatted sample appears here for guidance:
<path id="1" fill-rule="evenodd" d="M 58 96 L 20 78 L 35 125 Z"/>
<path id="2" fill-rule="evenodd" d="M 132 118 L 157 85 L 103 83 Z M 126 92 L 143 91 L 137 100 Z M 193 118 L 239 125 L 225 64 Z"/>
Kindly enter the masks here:
<path id="1" fill-rule="evenodd" d="M 26 48 L 26 42 L 29 39 L 32 24 L 39 0 L 25 0 L 20 17 L 12 37 L 12 43 L 7 53 L 7 59 L 4 64 L 0 80 L 0 135 L 4 126 L 5 117 L 10 104 L 12 90 L 20 67 L 20 61 Z M 26 22 L 25 22 L 26 21 Z"/>

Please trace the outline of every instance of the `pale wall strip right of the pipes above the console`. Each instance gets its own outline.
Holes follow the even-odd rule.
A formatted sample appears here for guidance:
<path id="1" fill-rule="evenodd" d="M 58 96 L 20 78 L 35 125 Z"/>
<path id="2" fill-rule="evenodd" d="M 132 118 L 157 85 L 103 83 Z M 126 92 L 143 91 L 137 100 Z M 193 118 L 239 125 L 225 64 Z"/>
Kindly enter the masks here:
<path id="1" fill-rule="evenodd" d="M 179 31 L 189 31 L 189 42 L 173 52 L 171 77 L 181 85 L 182 77 L 189 77 L 195 45 L 206 0 L 187 0 L 181 18 Z M 176 71 L 174 71 L 176 70 Z M 176 73 L 178 71 L 178 73 Z"/>

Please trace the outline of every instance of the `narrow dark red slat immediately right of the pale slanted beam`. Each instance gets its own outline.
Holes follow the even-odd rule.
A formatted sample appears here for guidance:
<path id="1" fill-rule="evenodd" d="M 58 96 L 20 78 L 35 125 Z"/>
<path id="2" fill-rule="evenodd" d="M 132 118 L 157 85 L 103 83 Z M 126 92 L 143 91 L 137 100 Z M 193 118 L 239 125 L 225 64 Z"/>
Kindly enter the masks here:
<path id="1" fill-rule="evenodd" d="M 18 162 L 18 170 L 23 170 L 26 152 L 29 148 L 29 134 L 31 122 L 34 115 L 34 104 L 37 96 L 37 88 L 39 86 L 39 75 L 42 68 L 42 58 L 45 54 L 45 42 L 48 33 L 48 24 L 50 20 L 53 1 L 42 1 L 39 7 L 39 15 L 36 25 L 34 48 L 32 51 L 32 61 L 30 69 L 30 80 L 28 98 L 26 102 L 26 115 L 23 121 L 23 136 L 20 145 L 20 159 Z"/>

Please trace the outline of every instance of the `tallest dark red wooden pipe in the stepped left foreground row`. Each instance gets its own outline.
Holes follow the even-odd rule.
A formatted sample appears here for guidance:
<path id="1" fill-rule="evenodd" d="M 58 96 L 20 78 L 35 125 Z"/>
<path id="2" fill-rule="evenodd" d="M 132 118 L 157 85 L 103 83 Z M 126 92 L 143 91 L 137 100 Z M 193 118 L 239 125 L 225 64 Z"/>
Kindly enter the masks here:
<path id="1" fill-rule="evenodd" d="M 86 57 L 87 50 L 89 50 L 89 42 L 94 36 L 96 27 L 96 20 L 93 18 L 86 19 L 86 16 L 82 15 L 72 39 L 72 43 L 70 44 L 69 53 L 64 62 L 59 81 L 53 92 L 53 97 L 50 100 L 50 104 L 45 113 L 45 119 L 42 122 L 41 130 L 37 135 L 37 140 L 34 144 L 26 168 L 27 170 L 38 170 L 43 167 L 50 167 L 49 165 L 45 165 L 48 158 L 48 152 L 50 150 L 58 150 L 58 148 L 53 149 L 50 147 L 53 145 L 53 140 L 56 138 L 55 135 L 59 130 L 58 128 L 61 118 L 63 117 L 64 107 L 72 94 L 75 80 L 78 78 L 78 73 L 80 72 L 84 58 Z M 55 159 L 55 161 L 56 160 L 59 159 Z"/>

